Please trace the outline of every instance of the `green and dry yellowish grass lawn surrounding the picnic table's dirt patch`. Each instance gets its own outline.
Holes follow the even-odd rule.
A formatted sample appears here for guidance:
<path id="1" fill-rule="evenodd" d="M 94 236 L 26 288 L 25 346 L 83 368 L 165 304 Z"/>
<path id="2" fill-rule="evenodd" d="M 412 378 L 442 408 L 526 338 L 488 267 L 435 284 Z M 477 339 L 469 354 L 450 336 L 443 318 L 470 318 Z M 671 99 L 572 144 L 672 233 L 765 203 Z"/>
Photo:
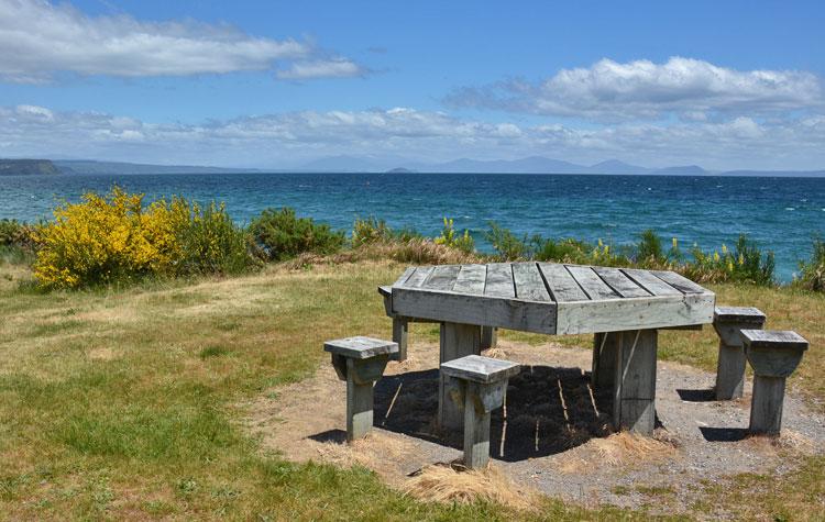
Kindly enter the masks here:
<path id="1" fill-rule="evenodd" d="M 513 518 L 490 503 L 417 502 L 364 468 L 262 455 L 240 424 L 246 401 L 317 367 L 324 338 L 388 336 L 375 287 L 399 270 L 386 263 L 273 267 L 231 279 L 44 295 L 28 289 L 25 268 L 0 264 L 0 518 Z M 771 326 L 807 336 L 812 349 L 793 386 L 812 401 L 825 396 L 815 379 L 823 371 L 823 296 L 716 290 L 721 302 L 760 307 Z M 437 340 L 430 325 L 416 325 L 414 333 Z M 707 329 L 667 333 L 661 344 L 666 358 L 714 365 L 716 341 Z M 766 517 L 822 515 L 822 464 L 812 459 L 778 488 L 773 484 L 768 503 L 750 502 L 747 491 L 760 479 L 744 477 L 729 487 L 708 486 L 710 507 L 696 509 L 712 512 L 724 501 Z M 552 500 L 540 514 L 647 518 Z"/>

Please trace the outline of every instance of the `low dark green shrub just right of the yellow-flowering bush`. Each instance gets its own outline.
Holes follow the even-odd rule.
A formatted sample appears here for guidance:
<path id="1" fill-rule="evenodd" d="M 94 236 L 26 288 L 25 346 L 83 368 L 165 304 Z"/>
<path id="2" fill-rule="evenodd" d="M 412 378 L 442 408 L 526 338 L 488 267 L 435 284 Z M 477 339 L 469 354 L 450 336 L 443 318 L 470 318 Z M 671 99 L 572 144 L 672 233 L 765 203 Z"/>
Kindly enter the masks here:
<path id="1" fill-rule="evenodd" d="M 301 253 L 333 254 L 344 244 L 343 232 L 311 218 L 297 218 L 290 208 L 266 209 L 250 224 L 255 245 L 270 260 L 284 260 Z"/>

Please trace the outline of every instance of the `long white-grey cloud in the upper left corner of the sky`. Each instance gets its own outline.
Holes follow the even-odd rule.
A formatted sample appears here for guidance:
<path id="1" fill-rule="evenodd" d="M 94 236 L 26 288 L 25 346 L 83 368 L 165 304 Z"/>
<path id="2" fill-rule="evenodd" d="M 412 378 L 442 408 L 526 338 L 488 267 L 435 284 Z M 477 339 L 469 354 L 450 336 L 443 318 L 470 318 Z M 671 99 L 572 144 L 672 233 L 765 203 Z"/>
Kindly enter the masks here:
<path id="1" fill-rule="evenodd" d="M 62 71 L 142 77 L 268 70 L 315 54 L 307 43 L 255 37 L 228 25 L 88 16 L 44 0 L 0 0 L 0 78 L 14 82 L 48 81 Z M 345 58 L 326 69 L 319 64 L 301 69 L 302 78 L 358 68 Z"/>

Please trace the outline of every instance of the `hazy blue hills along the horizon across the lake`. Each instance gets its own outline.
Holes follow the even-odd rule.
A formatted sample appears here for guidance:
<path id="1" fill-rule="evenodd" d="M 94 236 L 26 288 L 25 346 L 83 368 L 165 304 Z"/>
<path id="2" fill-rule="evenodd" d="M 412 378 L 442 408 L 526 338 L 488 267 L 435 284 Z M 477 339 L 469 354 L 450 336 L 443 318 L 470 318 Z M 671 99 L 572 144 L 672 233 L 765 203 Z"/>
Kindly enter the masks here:
<path id="1" fill-rule="evenodd" d="M 473 173 L 473 174 L 615 174 L 654 176 L 783 176 L 825 177 L 825 170 L 727 170 L 711 171 L 696 165 L 648 168 L 608 159 L 578 165 L 561 159 L 530 156 L 521 159 L 469 159 L 446 163 L 405 162 L 398 158 L 330 156 L 295 168 L 223 168 L 193 165 L 150 165 L 91 159 L 0 159 L 0 176 L 72 174 L 242 174 L 242 173 Z"/>

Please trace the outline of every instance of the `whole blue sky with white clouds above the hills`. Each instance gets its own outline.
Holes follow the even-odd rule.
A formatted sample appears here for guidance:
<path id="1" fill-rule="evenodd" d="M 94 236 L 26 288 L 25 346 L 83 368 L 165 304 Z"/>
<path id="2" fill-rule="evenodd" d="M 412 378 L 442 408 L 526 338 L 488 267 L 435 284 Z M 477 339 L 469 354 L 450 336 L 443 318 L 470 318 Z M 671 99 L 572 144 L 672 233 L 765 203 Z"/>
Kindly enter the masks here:
<path id="1" fill-rule="evenodd" d="M 0 0 L 0 156 L 825 168 L 824 2 Z"/>

